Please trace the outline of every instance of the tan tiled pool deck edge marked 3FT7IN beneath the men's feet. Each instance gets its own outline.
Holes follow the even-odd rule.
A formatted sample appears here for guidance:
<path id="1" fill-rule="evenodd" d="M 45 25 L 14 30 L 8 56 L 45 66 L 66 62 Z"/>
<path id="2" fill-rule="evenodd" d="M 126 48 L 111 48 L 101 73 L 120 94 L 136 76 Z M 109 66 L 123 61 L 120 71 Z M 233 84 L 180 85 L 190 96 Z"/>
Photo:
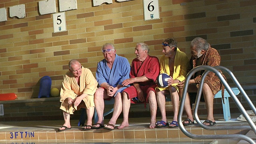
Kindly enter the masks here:
<path id="1" fill-rule="evenodd" d="M 232 118 L 224 121 L 222 115 L 215 116 L 214 126 L 243 126 L 247 122 L 237 121 Z M 168 117 L 168 120 L 172 118 Z M 185 118 L 184 118 L 185 119 Z M 122 119 L 120 119 L 122 120 Z M 116 126 L 121 121 L 118 120 Z M 218 140 L 195 140 L 182 133 L 180 128 L 148 128 L 150 118 L 131 118 L 129 127 L 114 129 L 112 131 L 92 129 L 83 131 L 78 126 L 78 120 L 71 120 L 72 129 L 58 132 L 64 120 L 54 121 L 26 121 L 26 122 L 1 122 L 0 123 L 0 144 L 247 144 L 248 142 L 239 139 L 218 139 Z M 160 118 L 157 118 L 160 120 Z M 105 120 L 108 122 L 108 120 Z M 256 139 L 252 130 L 206 130 L 193 124 L 185 126 L 192 134 L 247 134 Z"/>

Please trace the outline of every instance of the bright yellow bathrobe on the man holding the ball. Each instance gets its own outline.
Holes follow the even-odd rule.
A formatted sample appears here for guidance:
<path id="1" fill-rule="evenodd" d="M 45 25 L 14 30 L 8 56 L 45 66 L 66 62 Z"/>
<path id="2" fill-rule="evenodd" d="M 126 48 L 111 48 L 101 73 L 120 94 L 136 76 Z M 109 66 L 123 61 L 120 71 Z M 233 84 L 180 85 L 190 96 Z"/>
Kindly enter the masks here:
<path id="1" fill-rule="evenodd" d="M 174 80 L 179 80 L 180 82 L 185 80 L 186 75 L 188 74 L 187 70 L 188 70 L 188 56 L 184 53 L 181 52 L 179 48 L 177 48 L 176 54 L 175 54 L 175 58 L 174 58 L 174 72 L 173 72 L 173 76 L 172 78 Z M 160 58 L 160 74 L 162 73 L 166 73 L 170 76 L 170 68 L 169 68 L 169 57 L 163 55 Z M 178 90 L 178 87 L 176 86 L 176 84 L 172 84 L 172 86 L 174 88 L 176 88 L 176 90 Z M 158 88 L 160 91 L 162 90 L 169 90 L 169 87 L 167 88 L 159 88 L 158 86 L 156 87 Z"/>

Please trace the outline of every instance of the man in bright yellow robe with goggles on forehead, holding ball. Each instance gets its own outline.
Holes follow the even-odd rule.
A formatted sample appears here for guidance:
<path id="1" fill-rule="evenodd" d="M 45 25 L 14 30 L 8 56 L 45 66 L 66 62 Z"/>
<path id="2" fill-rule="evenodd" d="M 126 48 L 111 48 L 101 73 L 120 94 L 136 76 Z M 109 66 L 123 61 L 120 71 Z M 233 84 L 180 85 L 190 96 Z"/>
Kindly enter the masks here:
<path id="1" fill-rule="evenodd" d="M 177 48 L 177 42 L 174 38 L 164 40 L 162 48 L 164 55 L 160 58 L 160 74 L 166 73 L 170 78 L 168 79 L 167 88 L 156 87 L 156 98 L 162 115 L 162 120 L 157 122 L 156 127 L 161 128 L 168 125 L 169 128 L 175 128 L 178 127 L 179 95 L 181 96 L 181 91 L 176 85 L 178 82 L 185 80 L 189 60 L 187 55 Z M 166 118 L 164 91 L 170 93 L 174 111 L 174 117 L 170 125 Z"/>

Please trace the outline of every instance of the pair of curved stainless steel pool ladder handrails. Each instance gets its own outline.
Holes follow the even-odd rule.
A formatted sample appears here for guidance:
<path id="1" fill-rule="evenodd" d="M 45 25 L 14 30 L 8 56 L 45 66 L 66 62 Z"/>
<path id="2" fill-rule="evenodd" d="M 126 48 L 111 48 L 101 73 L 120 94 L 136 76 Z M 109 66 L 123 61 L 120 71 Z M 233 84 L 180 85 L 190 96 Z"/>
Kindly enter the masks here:
<path id="1" fill-rule="evenodd" d="M 200 101 L 200 96 L 202 93 L 202 85 L 204 82 L 204 79 L 206 77 L 206 75 L 208 74 L 208 72 L 212 71 L 214 72 L 218 78 L 220 78 L 220 81 L 222 82 L 222 84 L 224 84 L 226 90 L 228 91 L 228 94 L 230 94 L 231 98 L 235 101 L 236 105 L 238 106 L 239 110 L 242 112 L 242 114 L 244 114 L 246 120 L 249 122 L 250 127 L 248 126 L 236 126 L 235 129 L 249 129 L 249 130 L 253 130 L 254 133 L 256 132 L 256 126 L 255 124 L 252 122 L 252 120 L 250 119 L 250 117 L 248 116 L 248 114 L 246 113 L 246 110 L 244 109 L 244 107 L 242 106 L 242 104 L 239 102 L 238 98 L 236 97 L 236 95 L 234 94 L 234 92 L 232 92 L 230 86 L 228 85 L 228 83 L 226 82 L 226 80 L 224 79 L 224 77 L 222 76 L 222 74 L 217 70 L 217 69 L 221 69 L 224 70 L 226 72 L 228 72 L 228 74 L 230 76 L 232 76 L 232 80 L 236 83 L 236 85 L 238 86 L 238 89 L 240 90 L 240 92 L 244 95 L 244 97 L 246 98 L 246 101 L 249 103 L 250 107 L 254 107 L 252 108 L 253 111 L 256 110 L 255 106 L 251 103 L 250 99 L 248 98 L 247 94 L 244 92 L 244 90 L 242 89 L 242 86 L 240 86 L 239 82 L 236 80 L 236 78 L 234 77 L 234 75 L 232 74 L 232 72 L 230 72 L 230 70 L 228 70 L 227 68 L 224 68 L 222 66 L 217 66 L 217 67 L 211 67 L 211 66 L 197 66 L 196 68 L 193 68 L 190 72 L 188 72 L 185 82 L 184 82 L 184 88 L 183 88 L 183 93 L 182 93 L 182 98 L 180 100 L 180 108 L 179 108 L 179 112 L 178 112 L 178 124 L 180 126 L 180 130 L 188 137 L 190 138 L 194 138 L 194 139 L 242 139 L 242 140 L 246 140 L 247 142 L 249 142 L 250 144 L 256 144 L 254 142 L 254 140 L 252 140 L 252 138 L 245 136 L 243 134 L 228 134 L 228 135 L 196 135 L 196 134 L 191 134 L 190 132 L 188 132 L 184 125 L 182 124 L 182 114 L 183 114 L 183 110 L 184 110 L 184 104 L 185 104 L 185 99 L 186 99 L 186 93 L 188 90 L 188 82 L 190 80 L 190 78 L 192 77 L 192 75 L 200 70 L 206 70 L 204 72 L 204 74 L 202 75 L 202 79 L 200 82 L 200 86 L 198 88 L 198 94 L 196 97 L 196 104 L 195 104 L 195 108 L 196 110 L 194 111 L 194 116 L 196 119 L 196 122 L 198 122 L 198 124 L 205 129 L 208 130 L 222 130 L 222 129 L 234 129 L 231 127 L 210 127 L 210 126 L 205 126 L 204 124 L 202 124 L 202 122 L 199 120 L 198 118 L 198 114 L 197 114 L 197 109 L 198 109 L 198 104 Z M 254 112 L 255 113 L 255 112 Z"/>

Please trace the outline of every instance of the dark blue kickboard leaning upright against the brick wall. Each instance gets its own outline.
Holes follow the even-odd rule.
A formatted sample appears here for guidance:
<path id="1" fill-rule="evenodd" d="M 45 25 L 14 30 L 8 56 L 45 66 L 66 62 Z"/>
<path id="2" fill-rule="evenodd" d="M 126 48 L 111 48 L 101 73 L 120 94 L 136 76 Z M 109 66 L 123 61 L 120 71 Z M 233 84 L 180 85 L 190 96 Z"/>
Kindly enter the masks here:
<path id="1" fill-rule="evenodd" d="M 38 98 L 49 98 L 52 86 L 52 79 L 50 76 L 44 76 L 40 79 L 40 87 Z"/>

